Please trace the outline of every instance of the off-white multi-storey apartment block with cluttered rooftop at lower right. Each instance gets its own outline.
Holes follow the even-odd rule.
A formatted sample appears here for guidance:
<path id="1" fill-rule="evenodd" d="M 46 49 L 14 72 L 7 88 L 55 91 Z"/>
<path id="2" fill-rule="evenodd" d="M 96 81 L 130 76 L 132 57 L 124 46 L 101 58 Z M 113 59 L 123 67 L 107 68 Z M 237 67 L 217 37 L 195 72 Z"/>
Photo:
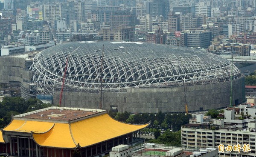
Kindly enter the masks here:
<path id="1" fill-rule="evenodd" d="M 218 148 L 220 145 L 250 146 L 250 151 L 219 151 L 219 157 L 256 157 L 256 108 L 241 104 L 238 108 L 225 109 L 224 119 L 201 115 L 181 126 L 181 145 L 189 148 Z M 198 115 L 199 116 L 199 115 Z M 196 121 L 196 122 L 195 122 Z M 200 123 L 197 123 L 200 121 Z"/>

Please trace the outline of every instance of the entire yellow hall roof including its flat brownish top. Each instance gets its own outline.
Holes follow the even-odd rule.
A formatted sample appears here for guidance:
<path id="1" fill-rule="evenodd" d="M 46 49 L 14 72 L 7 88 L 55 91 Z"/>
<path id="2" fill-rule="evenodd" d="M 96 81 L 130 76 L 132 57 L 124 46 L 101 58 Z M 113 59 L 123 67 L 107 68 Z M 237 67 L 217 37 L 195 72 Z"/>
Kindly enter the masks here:
<path id="1" fill-rule="evenodd" d="M 5 134 L 23 133 L 32 136 L 39 146 L 83 148 L 140 130 L 149 125 L 119 122 L 110 117 L 105 110 L 88 111 L 87 109 L 85 111 L 86 109 L 80 109 L 70 111 L 63 108 L 61 114 L 59 114 L 60 108 L 50 107 L 45 111 L 38 110 L 30 114 L 20 114 L 15 116 L 12 122 L 2 129 L 1 135 L 3 132 Z M 56 110 L 58 114 L 55 114 Z M 72 114 L 70 115 L 68 111 Z M 86 115 L 82 116 L 85 113 Z M 42 114 L 43 116 L 41 116 Z M 81 117 L 74 117 L 75 115 Z M 49 117 L 51 118 L 49 119 Z M 73 118 L 67 120 L 67 117 Z M 7 140 L 5 136 L 0 137 L 1 143 L 7 142 Z"/>

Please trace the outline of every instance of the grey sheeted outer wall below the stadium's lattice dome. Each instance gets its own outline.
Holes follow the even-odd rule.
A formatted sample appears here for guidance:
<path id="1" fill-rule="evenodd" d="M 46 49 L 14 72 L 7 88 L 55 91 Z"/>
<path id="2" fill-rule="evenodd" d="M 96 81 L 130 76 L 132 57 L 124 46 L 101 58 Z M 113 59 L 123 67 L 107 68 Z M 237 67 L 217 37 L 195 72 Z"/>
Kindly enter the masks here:
<path id="1" fill-rule="evenodd" d="M 206 85 L 186 86 L 186 100 L 189 112 L 224 108 L 230 104 L 231 83 L 214 83 Z M 53 95 L 53 103 L 59 103 L 60 92 Z M 233 80 L 233 102 L 245 101 L 244 77 Z M 64 91 L 61 106 L 99 108 L 100 93 L 80 93 Z M 126 92 L 104 92 L 102 108 L 110 109 L 118 106 L 119 112 L 157 113 L 185 112 L 183 86 L 173 88 L 128 88 Z"/>

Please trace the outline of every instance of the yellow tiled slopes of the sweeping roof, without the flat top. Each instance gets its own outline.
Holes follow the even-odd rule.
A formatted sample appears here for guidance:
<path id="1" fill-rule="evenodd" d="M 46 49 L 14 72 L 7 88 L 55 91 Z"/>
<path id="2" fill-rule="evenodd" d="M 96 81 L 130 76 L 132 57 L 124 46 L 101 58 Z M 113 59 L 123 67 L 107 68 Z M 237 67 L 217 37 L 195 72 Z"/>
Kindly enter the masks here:
<path id="1" fill-rule="evenodd" d="M 70 124 L 12 120 L 3 131 L 32 132 L 35 142 L 40 146 L 76 148 L 78 144 L 81 147 L 87 147 L 140 130 L 148 125 L 122 123 L 105 113 Z M 0 137 L 0 142 L 4 143 L 3 136 Z"/>

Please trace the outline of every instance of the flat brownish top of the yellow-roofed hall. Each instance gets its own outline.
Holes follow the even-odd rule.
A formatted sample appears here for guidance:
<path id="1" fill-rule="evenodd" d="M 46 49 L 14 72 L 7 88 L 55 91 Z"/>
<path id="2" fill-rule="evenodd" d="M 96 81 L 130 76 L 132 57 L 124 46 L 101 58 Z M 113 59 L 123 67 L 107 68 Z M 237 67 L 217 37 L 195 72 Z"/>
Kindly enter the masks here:
<path id="1" fill-rule="evenodd" d="M 65 108 L 65 107 L 48 107 L 31 111 L 24 114 L 14 116 L 15 119 L 26 120 L 57 120 L 57 121 L 69 121 L 79 118 L 86 119 L 92 117 L 94 114 L 98 114 L 106 110 L 88 109 L 88 108 Z"/>

